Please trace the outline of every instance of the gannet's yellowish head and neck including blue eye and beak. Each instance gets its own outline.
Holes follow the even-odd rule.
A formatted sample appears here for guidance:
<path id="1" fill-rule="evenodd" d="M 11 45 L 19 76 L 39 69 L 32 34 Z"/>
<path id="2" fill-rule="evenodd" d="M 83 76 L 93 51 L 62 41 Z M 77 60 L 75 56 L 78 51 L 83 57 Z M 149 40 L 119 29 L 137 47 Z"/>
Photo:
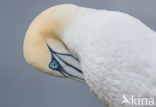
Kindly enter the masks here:
<path id="1" fill-rule="evenodd" d="M 63 32 L 85 8 L 65 4 L 51 7 L 30 24 L 24 39 L 24 58 L 46 74 L 84 81 L 79 60 L 63 42 Z"/>

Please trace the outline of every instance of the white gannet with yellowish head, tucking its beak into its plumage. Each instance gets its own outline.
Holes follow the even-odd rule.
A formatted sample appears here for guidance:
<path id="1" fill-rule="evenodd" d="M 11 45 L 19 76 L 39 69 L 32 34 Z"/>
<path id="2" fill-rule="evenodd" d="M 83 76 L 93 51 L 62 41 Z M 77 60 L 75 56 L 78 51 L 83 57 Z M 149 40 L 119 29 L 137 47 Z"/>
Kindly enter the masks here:
<path id="1" fill-rule="evenodd" d="M 23 53 L 43 73 L 85 83 L 104 107 L 156 98 L 156 33 L 126 13 L 52 6 L 28 27 Z"/>

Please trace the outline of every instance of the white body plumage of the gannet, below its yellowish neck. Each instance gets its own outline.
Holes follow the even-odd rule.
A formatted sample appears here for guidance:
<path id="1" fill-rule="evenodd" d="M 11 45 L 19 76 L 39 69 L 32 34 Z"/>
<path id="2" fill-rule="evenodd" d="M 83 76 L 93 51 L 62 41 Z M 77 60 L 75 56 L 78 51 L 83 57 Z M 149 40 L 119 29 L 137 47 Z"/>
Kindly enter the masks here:
<path id="1" fill-rule="evenodd" d="M 90 89 L 110 107 L 126 107 L 123 95 L 156 98 L 156 33 L 136 18 L 86 13 L 65 30 L 63 40 L 79 57 Z"/>

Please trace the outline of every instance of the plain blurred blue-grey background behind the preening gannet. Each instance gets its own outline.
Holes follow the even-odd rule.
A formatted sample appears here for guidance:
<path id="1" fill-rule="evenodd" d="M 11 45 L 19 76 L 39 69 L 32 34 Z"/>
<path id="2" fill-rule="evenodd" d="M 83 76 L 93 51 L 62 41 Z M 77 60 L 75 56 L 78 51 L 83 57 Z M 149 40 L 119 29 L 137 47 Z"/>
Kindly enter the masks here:
<path id="1" fill-rule="evenodd" d="M 24 61 L 32 19 L 63 3 L 126 12 L 156 30 L 156 0 L 0 0 L 0 107 L 102 107 L 85 84 L 45 75 Z"/>

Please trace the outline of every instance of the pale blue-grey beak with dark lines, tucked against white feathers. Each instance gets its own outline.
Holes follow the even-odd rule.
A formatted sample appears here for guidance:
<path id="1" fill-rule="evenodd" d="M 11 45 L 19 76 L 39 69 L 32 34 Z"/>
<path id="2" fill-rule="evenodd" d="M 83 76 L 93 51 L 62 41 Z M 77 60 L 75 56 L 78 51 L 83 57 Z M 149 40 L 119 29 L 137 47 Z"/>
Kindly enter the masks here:
<path id="1" fill-rule="evenodd" d="M 83 72 L 81 71 L 80 62 L 77 58 L 71 54 L 55 52 L 48 44 L 47 46 L 51 52 L 52 58 L 55 58 L 59 64 L 58 71 L 64 77 L 85 82 Z"/>

